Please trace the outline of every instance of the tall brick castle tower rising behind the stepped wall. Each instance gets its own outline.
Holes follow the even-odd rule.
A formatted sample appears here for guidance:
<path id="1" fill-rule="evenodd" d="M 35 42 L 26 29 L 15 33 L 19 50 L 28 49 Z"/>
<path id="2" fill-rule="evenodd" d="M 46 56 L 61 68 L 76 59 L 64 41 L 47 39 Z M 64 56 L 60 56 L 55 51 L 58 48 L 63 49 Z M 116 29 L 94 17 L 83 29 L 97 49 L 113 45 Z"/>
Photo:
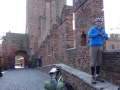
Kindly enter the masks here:
<path id="1" fill-rule="evenodd" d="M 53 24 L 61 20 L 66 0 L 27 0 L 26 33 L 30 40 L 30 54 L 38 51 L 41 42 L 50 34 Z"/>

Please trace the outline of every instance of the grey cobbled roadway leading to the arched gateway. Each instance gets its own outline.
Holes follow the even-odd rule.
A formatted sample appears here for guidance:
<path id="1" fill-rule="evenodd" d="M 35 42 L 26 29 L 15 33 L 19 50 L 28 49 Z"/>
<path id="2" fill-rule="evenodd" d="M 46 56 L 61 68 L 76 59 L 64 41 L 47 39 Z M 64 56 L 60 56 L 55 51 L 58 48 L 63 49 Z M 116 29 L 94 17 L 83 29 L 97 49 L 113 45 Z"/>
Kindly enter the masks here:
<path id="1" fill-rule="evenodd" d="M 50 76 L 36 69 L 8 70 L 0 77 L 0 90 L 44 90 L 46 80 L 50 80 Z"/>

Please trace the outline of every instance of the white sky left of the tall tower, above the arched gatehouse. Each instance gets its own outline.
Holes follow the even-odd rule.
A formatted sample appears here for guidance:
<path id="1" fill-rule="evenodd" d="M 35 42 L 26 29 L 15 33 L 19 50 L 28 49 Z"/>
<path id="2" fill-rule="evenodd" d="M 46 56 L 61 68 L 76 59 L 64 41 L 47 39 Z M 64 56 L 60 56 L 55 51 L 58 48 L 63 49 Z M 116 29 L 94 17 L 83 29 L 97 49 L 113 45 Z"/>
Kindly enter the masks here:
<path id="1" fill-rule="evenodd" d="M 26 0 L 0 0 L 0 35 L 8 31 L 24 33 Z"/>

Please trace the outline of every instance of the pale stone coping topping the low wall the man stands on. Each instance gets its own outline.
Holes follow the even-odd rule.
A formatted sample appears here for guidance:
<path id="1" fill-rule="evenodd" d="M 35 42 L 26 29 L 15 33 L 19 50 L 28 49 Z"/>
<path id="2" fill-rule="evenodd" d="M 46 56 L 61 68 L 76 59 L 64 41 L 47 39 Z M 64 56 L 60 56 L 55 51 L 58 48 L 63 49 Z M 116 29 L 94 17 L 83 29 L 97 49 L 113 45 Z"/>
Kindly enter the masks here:
<path id="1" fill-rule="evenodd" d="M 82 81 L 93 87 L 95 90 L 117 90 L 119 87 L 107 81 L 105 81 L 104 83 L 97 82 L 97 84 L 91 84 L 91 75 L 88 73 L 82 72 L 78 69 L 72 68 L 62 63 L 52 64 L 52 65 L 61 66 L 62 70 L 68 72 L 69 74 L 72 74 L 73 76 L 80 78 Z M 48 65 L 48 66 L 52 66 L 52 65 Z"/>

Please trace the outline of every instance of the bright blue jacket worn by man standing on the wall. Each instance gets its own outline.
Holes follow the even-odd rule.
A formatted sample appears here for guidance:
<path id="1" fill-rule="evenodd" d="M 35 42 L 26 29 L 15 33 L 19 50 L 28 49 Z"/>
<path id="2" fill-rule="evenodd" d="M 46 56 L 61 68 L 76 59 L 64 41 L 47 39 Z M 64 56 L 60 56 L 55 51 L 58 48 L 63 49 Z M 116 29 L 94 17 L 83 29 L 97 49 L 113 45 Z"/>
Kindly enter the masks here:
<path id="1" fill-rule="evenodd" d="M 104 39 L 108 40 L 108 35 L 104 28 L 94 26 L 88 31 L 88 38 L 90 38 L 89 46 L 103 46 Z"/>

